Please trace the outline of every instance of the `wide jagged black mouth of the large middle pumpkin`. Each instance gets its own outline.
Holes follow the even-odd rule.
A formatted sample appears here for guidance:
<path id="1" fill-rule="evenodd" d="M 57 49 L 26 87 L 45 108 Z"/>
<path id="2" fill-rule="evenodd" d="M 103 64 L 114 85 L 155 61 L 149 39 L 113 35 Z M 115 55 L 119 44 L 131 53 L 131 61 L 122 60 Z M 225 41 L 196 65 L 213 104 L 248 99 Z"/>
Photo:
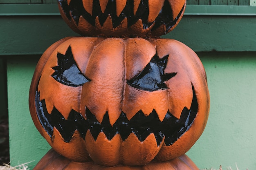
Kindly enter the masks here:
<path id="1" fill-rule="evenodd" d="M 150 133 L 153 133 L 158 146 L 164 137 L 165 144 L 170 146 L 189 130 L 197 115 L 198 102 L 193 84 L 192 90 L 193 99 L 191 107 L 190 109 L 184 107 L 180 119 L 177 119 L 168 111 L 164 120 L 160 121 L 155 110 L 148 116 L 145 116 L 140 110 L 130 120 L 127 119 L 126 113 L 122 112 L 115 124 L 111 126 L 108 112 L 104 115 L 103 121 L 100 124 L 88 108 L 86 108 L 87 119 L 75 110 L 71 110 L 69 117 L 65 119 L 55 107 L 51 114 L 47 112 L 45 100 L 40 101 L 40 92 L 38 91 L 36 91 L 35 99 L 36 113 L 40 124 L 48 135 L 52 138 L 53 128 L 56 127 L 65 142 L 72 140 L 75 130 L 78 130 L 83 139 L 85 139 L 86 132 L 90 130 L 95 141 L 99 132 L 104 132 L 108 140 L 111 140 L 116 134 L 120 134 L 123 141 L 127 139 L 130 133 L 134 133 L 139 141 L 144 141 Z"/>

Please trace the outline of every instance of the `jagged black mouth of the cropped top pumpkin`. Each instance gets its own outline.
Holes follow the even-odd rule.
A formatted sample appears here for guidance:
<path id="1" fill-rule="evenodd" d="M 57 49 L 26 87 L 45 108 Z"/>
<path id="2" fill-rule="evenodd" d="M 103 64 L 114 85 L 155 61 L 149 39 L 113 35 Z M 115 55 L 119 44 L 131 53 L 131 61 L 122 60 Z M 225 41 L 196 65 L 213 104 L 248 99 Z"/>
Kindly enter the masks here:
<path id="1" fill-rule="evenodd" d="M 102 13 L 101 11 L 99 0 L 94 0 L 92 7 L 92 15 L 83 8 L 82 0 L 72 0 L 69 5 L 67 4 L 67 0 L 58 0 L 58 2 L 62 10 L 64 11 L 66 17 L 69 20 L 73 18 L 77 25 L 79 24 L 80 16 L 83 16 L 83 18 L 87 20 L 92 26 L 95 26 L 95 18 L 99 17 L 99 22 L 101 26 L 103 26 L 104 22 L 108 18 L 108 15 L 110 15 L 112 18 L 113 28 L 119 26 L 121 22 L 124 20 L 124 18 L 127 18 L 128 27 L 135 24 L 139 19 L 142 20 L 144 29 L 149 28 L 153 24 L 153 22 L 147 21 L 149 15 L 148 0 L 141 0 L 135 15 L 133 13 L 134 0 L 127 0 L 126 6 L 124 7 L 123 11 L 119 16 L 117 16 L 116 13 L 116 0 L 108 1 L 104 13 Z M 166 25 L 165 32 L 167 32 L 169 29 L 171 29 L 171 27 L 175 25 L 177 20 L 182 15 L 183 10 L 184 6 L 182 7 L 177 17 L 173 18 L 173 11 L 171 9 L 171 6 L 168 0 L 165 0 L 163 8 L 160 10 L 159 15 L 155 19 L 155 25 L 153 26 L 152 31 L 157 29 L 162 24 L 164 24 Z"/>

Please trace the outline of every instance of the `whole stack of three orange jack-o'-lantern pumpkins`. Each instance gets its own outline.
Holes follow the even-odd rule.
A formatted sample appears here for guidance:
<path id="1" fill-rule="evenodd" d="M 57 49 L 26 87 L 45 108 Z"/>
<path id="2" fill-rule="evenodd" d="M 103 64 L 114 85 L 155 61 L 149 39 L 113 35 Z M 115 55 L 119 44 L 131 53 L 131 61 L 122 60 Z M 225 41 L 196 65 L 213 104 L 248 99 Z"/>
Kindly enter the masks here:
<path id="1" fill-rule="evenodd" d="M 209 114 L 204 67 L 186 45 L 158 37 L 177 25 L 186 1 L 58 6 L 84 36 L 54 43 L 36 66 L 29 108 L 53 150 L 35 170 L 198 169 L 184 154 Z"/>

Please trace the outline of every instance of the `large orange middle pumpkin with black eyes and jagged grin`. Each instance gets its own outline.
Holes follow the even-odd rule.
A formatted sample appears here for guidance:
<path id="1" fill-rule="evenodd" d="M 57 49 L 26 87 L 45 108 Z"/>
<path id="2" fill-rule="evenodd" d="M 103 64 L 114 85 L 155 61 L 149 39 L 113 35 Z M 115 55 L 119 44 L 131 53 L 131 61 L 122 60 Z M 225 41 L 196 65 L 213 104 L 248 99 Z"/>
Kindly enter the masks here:
<path id="1" fill-rule="evenodd" d="M 202 63 L 180 42 L 75 37 L 43 54 L 29 106 L 61 155 L 133 166 L 188 151 L 206 126 L 209 92 Z"/>

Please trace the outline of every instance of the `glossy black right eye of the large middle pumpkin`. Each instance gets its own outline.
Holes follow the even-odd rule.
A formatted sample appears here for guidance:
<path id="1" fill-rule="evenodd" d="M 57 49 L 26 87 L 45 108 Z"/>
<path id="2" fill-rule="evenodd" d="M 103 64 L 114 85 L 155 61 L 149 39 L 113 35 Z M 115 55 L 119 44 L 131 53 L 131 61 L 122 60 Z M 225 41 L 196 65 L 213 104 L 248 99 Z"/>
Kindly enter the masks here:
<path id="1" fill-rule="evenodd" d="M 168 79 L 171 79 L 177 74 L 164 73 L 168 56 L 169 55 L 166 55 L 163 58 L 159 58 L 159 56 L 156 54 L 146 65 L 144 70 L 141 71 L 139 75 L 128 80 L 127 84 L 144 91 L 156 91 L 159 89 L 167 89 L 167 85 L 164 82 Z"/>

